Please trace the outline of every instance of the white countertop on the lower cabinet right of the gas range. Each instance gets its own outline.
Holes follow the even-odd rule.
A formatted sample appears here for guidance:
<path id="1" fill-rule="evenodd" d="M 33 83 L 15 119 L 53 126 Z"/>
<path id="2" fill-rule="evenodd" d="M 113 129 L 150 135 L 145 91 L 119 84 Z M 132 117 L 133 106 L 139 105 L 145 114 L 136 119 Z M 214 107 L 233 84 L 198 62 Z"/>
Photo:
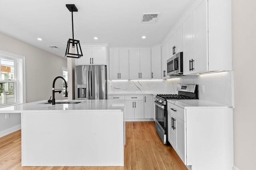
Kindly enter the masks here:
<path id="1" fill-rule="evenodd" d="M 209 102 L 206 100 L 199 100 L 199 99 L 193 99 L 193 100 L 167 100 L 167 102 L 170 102 L 176 106 L 182 107 L 184 109 L 200 109 L 200 108 L 232 108 L 231 106 L 226 106 L 223 104 L 218 104 L 214 102 Z"/>

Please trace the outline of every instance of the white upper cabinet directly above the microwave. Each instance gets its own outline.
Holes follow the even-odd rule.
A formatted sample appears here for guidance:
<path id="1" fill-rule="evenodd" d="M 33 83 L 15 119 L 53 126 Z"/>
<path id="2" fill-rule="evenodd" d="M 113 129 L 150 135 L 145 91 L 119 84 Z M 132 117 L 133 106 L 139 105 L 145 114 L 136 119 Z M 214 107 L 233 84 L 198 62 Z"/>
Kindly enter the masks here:
<path id="1" fill-rule="evenodd" d="M 169 57 L 172 57 L 176 53 L 182 52 L 183 49 L 183 30 L 182 24 L 178 25 L 177 28 L 174 28 L 174 31 L 169 38 Z"/>

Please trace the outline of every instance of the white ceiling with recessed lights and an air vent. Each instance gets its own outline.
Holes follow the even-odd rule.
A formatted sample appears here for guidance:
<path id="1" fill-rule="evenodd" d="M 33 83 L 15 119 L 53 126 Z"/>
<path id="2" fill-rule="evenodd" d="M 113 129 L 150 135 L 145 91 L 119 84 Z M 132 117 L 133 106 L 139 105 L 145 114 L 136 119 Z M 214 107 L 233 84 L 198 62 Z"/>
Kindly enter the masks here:
<path id="1" fill-rule="evenodd" d="M 149 47 L 161 43 L 192 0 L 0 0 L 0 32 L 64 57 L 72 38 L 110 47 Z M 142 13 L 157 13 L 142 23 Z M 146 36 L 142 39 L 142 36 Z M 42 38 L 38 41 L 37 38 Z M 98 37 L 95 40 L 94 37 Z M 56 46 L 53 49 L 48 46 Z"/>

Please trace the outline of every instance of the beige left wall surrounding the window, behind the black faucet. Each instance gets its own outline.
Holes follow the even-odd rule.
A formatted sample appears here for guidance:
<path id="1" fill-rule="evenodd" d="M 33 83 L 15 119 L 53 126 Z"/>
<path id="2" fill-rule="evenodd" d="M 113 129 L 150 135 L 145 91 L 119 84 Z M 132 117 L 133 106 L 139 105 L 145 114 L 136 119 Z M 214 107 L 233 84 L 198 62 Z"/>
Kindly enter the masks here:
<path id="1" fill-rule="evenodd" d="M 0 33 L 0 49 L 25 56 L 26 60 L 26 102 L 48 100 L 52 96 L 52 82 L 62 76 L 62 66 L 67 60 L 18 39 Z M 62 79 L 56 81 L 60 88 Z M 61 95 L 56 93 L 56 99 Z"/>

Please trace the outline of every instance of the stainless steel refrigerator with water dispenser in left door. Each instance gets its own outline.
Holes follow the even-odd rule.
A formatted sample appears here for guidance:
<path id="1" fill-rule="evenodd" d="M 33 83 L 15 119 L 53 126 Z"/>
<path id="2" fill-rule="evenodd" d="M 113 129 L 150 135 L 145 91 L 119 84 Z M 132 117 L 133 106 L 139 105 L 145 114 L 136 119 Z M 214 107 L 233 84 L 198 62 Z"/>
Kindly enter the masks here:
<path id="1" fill-rule="evenodd" d="M 107 99 L 107 66 L 75 66 L 75 99 Z"/>

